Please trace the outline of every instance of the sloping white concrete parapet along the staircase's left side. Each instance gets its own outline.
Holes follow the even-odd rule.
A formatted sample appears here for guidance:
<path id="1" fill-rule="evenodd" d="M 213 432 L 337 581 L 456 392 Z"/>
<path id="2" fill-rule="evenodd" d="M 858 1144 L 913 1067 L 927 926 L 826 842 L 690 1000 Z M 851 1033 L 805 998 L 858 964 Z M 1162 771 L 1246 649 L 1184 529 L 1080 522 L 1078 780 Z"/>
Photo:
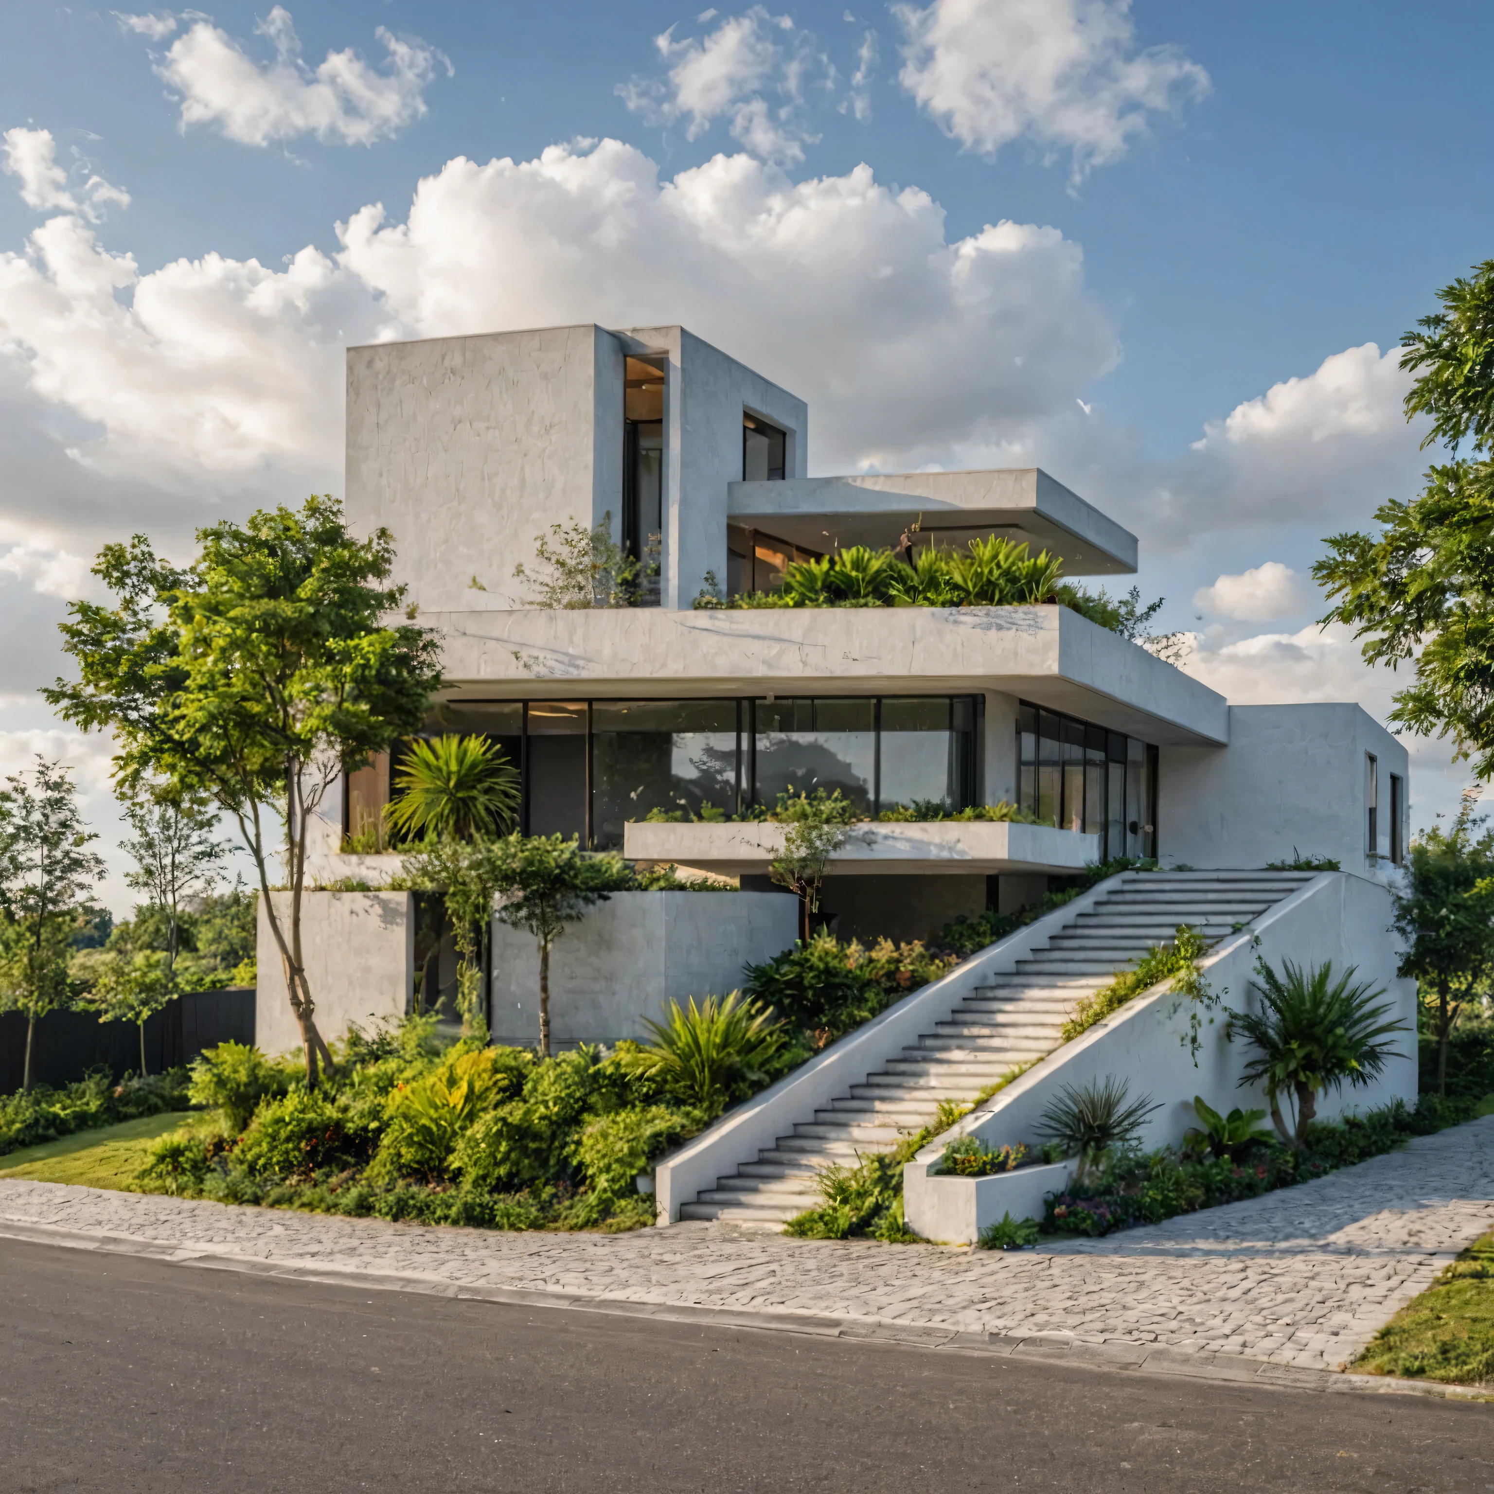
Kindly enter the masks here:
<path id="1" fill-rule="evenodd" d="M 674 1224 L 680 1207 L 693 1201 L 702 1189 L 714 1188 L 717 1177 L 734 1173 L 743 1162 L 757 1161 L 760 1150 L 771 1147 L 780 1135 L 789 1135 L 798 1122 L 810 1120 L 837 1095 L 850 1094 L 852 1085 L 862 1083 L 889 1058 L 916 1043 L 920 1034 L 932 1031 L 934 1023 L 947 1017 L 974 988 L 1016 970 L 1019 959 L 1044 947 L 1070 919 L 1134 875 L 1122 872 L 1109 877 L 1046 917 L 980 950 L 947 976 L 904 996 L 792 1074 L 784 1074 L 762 1094 L 728 1112 L 710 1129 L 657 1164 L 657 1222 Z"/>

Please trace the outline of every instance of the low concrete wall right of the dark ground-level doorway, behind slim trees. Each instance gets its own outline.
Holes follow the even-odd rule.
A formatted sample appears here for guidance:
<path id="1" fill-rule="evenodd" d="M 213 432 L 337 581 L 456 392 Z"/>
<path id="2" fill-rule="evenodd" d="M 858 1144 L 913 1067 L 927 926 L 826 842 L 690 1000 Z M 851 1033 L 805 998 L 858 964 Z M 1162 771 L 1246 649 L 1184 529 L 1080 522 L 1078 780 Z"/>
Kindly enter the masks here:
<path id="1" fill-rule="evenodd" d="M 556 941 L 550 1023 L 556 1044 L 645 1040 L 665 1004 L 726 995 L 743 965 L 798 937 L 798 898 L 783 892 L 616 892 Z M 492 1028 L 496 1043 L 539 1038 L 539 952 L 533 935 L 493 920 Z"/>

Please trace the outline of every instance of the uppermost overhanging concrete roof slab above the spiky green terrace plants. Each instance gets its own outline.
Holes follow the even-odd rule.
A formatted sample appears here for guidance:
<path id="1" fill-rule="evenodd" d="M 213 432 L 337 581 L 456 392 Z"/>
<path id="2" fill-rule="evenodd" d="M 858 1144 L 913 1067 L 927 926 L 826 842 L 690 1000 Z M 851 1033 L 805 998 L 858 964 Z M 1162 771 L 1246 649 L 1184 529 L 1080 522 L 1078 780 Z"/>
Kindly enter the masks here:
<path id="1" fill-rule="evenodd" d="M 726 495 L 728 523 L 820 553 L 895 545 L 917 524 L 920 542 L 1022 539 L 1059 556 L 1070 575 L 1135 571 L 1135 535 L 1038 468 L 732 483 Z"/>

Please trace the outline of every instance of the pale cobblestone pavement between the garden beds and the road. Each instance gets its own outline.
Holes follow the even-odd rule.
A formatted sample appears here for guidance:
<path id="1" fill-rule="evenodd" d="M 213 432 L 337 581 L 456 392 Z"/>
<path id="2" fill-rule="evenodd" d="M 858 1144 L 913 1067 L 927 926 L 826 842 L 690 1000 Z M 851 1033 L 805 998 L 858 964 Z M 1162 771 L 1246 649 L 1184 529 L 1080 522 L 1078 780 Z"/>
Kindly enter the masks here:
<path id="1" fill-rule="evenodd" d="M 1013 1253 L 790 1240 L 716 1224 L 503 1234 L 0 1179 L 0 1234 L 426 1289 L 896 1325 L 943 1342 L 1152 1346 L 1333 1370 L 1494 1228 L 1494 1116 L 1313 1183 Z"/>

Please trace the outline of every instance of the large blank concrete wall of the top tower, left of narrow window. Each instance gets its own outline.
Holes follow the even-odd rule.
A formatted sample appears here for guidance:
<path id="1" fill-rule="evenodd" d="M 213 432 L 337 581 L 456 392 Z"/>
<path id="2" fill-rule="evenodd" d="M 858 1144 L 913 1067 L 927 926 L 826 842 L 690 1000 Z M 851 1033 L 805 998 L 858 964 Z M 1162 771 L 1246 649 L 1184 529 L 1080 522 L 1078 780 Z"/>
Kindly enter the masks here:
<path id="1" fill-rule="evenodd" d="M 523 605 L 514 566 L 551 524 L 610 511 L 620 533 L 623 350 L 602 327 L 350 348 L 347 376 L 348 517 L 393 530 L 423 611 Z"/>

